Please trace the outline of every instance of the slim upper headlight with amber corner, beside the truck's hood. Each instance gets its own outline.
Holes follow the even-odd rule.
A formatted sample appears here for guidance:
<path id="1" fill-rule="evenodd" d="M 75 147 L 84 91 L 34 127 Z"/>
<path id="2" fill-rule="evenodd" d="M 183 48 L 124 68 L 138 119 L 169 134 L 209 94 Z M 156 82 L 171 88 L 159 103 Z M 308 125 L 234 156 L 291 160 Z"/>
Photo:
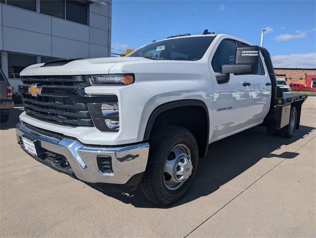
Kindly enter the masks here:
<path id="1" fill-rule="evenodd" d="M 135 81 L 133 74 L 87 75 L 91 85 L 128 85 Z"/>

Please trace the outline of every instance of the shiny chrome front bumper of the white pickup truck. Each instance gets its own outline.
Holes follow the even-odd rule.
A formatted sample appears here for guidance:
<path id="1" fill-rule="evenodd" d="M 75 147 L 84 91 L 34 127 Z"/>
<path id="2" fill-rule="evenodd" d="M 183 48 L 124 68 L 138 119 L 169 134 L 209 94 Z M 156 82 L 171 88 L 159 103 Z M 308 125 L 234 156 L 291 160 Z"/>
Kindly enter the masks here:
<path id="1" fill-rule="evenodd" d="M 126 184 L 133 175 L 145 171 L 149 153 L 149 143 L 107 148 L 104 146 L 85 146 L 69 138 L 49 137 L 28 128 L 23 122 L 16 126 L 16 136 L 21 147 L 21 137 L 27 135 L 39 141 L 45 151 L 64 156 L 76 177 L 89 183 Z M 102 173 L 97 164 L 97 156 L 112 158 L 112 173 Z M 34 157 L 34 156 L 33 156 Z M 34 157 L 41 161 L 43 159 Z M 56 168 L 55 168 L 56 169 Z"/>

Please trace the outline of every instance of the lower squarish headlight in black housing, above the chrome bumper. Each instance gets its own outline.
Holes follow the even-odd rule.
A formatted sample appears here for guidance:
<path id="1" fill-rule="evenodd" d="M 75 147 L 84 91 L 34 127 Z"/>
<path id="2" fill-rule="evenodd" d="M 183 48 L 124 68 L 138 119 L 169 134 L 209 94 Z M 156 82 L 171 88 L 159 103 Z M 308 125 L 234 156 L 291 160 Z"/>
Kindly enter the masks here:
<path id="1" fill-rule="evenodd" d="M 89 112 L 95 127 L 101 131 L 119 130 L 118 102 L 89 103 Z"/>

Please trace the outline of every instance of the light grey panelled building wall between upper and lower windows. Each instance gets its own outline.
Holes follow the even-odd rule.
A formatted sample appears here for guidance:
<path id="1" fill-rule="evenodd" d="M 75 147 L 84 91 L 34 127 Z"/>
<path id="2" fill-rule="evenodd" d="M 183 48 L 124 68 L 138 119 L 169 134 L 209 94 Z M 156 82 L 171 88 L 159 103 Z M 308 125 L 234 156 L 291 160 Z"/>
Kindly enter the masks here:
<path id="1" fill-rule="evenodd" d="M 109 57 L 112 1 L 104 2 L 89 4 L 88 25 L 0 3 L 0 49 L 57 58 Z"/>

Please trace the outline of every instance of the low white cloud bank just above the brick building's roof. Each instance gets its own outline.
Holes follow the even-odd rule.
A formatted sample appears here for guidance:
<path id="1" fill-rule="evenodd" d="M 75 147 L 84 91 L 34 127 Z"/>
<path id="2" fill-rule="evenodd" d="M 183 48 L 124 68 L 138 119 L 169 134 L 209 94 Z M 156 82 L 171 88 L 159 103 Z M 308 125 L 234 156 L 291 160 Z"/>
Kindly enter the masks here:
<path id="1" fill-rule="evenodd" d="M 275 68 L 316 68 L 316 52 L 272 56 Z"/>

